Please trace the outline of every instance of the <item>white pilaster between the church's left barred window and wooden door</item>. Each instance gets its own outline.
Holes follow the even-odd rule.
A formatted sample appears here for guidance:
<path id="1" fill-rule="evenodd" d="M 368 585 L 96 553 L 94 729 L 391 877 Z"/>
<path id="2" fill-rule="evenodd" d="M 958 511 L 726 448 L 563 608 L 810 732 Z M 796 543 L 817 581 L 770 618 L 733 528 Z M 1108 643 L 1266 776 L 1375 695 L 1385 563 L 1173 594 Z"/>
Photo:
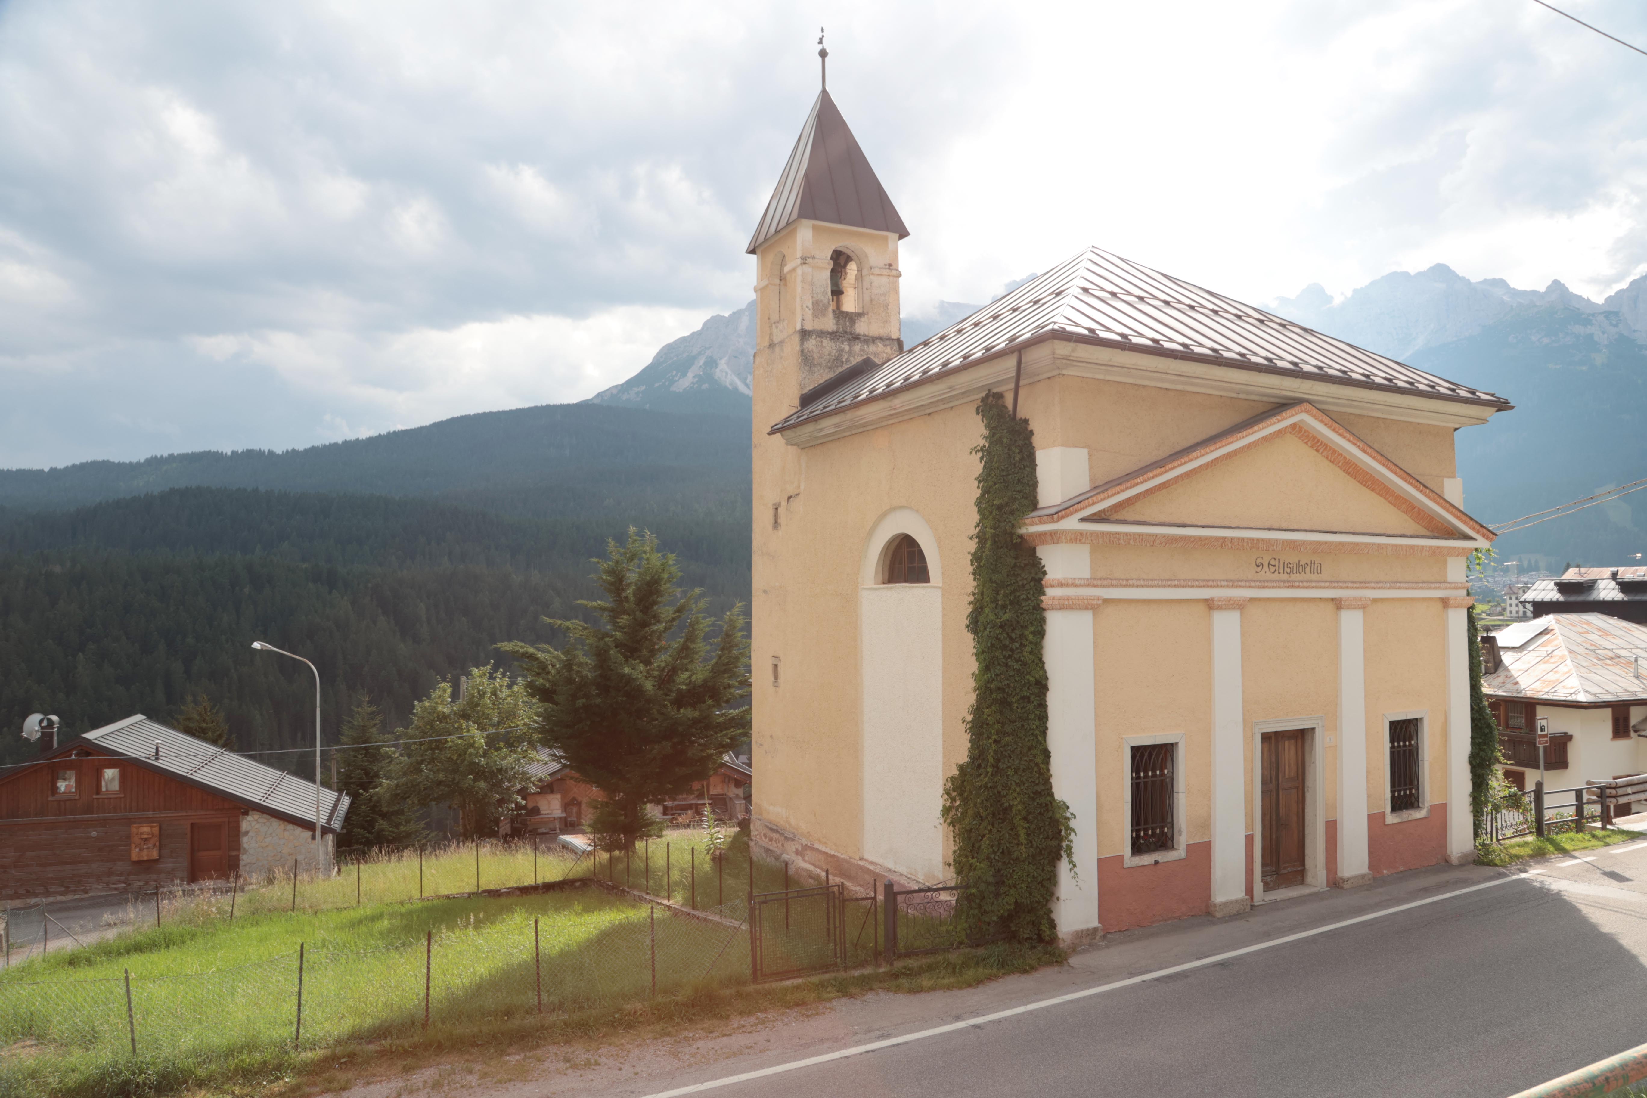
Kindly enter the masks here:
<path id="1" fill-rule="evenodd" d="M 1240 678 L 1242 598 L 1212 607 L 1212 914 L 1247 910 L 1247 764 Z"/>

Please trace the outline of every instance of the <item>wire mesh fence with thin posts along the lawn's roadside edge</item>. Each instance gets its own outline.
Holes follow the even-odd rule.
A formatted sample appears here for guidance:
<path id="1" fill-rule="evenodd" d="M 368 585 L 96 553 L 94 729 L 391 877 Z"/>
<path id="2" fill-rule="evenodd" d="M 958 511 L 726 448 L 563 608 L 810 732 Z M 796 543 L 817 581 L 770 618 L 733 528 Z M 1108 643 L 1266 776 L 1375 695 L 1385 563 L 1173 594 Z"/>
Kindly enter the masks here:
<path id="1" fill-rule="evenodd" d="M 0 1049 L 99 1058 L 321 1049 L 425 1027 L 644 1001 L 748 981 L 744 904 L 629 904 L 596 933 L 552 920 L 428 932 L 377 950 L 300 943 L 288 956 L 181 975 L 0 979 Z M 3 1070 L 3 1067 L 0 1067 Z"/>

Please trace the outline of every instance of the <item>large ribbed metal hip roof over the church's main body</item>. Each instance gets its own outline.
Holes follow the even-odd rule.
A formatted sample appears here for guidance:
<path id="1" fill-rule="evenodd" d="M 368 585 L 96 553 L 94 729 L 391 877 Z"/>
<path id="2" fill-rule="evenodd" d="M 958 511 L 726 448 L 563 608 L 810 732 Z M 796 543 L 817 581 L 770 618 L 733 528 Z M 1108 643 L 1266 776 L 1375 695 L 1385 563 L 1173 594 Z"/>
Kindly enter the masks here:
<path id="1" fill-rule="evenodd" d="M 991 301 L 781 420 L 781 431 L 934 380 L 1015 346 L 1062 337 L 1143 354 L 1509 408 L 1510 402 L 1202 290 L 1097 247 Z M 812 390 L 817 392 L 817 390 Z"/>

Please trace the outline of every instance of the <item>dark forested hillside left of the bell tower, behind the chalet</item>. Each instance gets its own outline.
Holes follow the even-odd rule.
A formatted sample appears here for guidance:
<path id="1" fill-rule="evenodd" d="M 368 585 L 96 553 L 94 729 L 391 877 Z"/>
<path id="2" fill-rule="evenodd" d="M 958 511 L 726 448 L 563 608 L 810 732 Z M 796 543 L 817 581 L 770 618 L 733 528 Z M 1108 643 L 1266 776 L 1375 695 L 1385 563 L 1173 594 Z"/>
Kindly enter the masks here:
<path id="1" fill-rule="evenodd" d="M 0 762 L 35 711 L 69 733 L 191 693 L 242 751 L 328 741 L 348 698 L 390 726 L 433 685 L 555 639 L 628 527 L 720 612 L 749 598 L 748 423 L 560 405 L 305 451 L 0 471 Z M 92 502 L 96 500 L 96 502 Z M 301 769 L 301 756 L 272 759 Z"/>

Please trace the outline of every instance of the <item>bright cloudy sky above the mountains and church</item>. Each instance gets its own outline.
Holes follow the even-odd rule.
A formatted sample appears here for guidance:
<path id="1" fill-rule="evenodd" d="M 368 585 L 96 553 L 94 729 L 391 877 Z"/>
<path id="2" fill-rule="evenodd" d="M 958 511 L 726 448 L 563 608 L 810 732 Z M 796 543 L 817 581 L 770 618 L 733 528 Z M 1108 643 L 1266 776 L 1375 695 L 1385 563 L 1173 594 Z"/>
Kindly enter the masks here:
<path id="1" fill-rule="evenodd" d="M 1087 244 L 1253 301 L 1647 270 L 1647 58 L 1532 0 L 10 0 L 0 466 L 621 380 L 749 298 L 820 21 L 906 313 Z"/>

